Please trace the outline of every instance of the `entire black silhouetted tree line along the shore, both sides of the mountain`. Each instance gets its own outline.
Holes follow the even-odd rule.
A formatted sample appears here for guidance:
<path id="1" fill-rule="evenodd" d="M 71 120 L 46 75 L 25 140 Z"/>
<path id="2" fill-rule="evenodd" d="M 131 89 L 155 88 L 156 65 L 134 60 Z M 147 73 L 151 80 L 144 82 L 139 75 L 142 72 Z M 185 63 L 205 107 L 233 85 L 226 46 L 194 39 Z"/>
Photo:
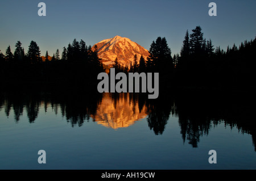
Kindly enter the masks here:
<path id="1" fill-rule="evenodd" d="M 251 89 L 255 77 L 256 38 L 245 41 L 237 47 L 227 47 L 224 51 L 215 47 L 212 40 L 206 40 L 200 26 L 191 33 L 185 33 L 180 53 L 171 55 L 165 37 L 152 41 L 150 56 L 138 57 L 130 65 L 120 65 L 117 58 L 113 63 L 115 73 L 129 72 L 159 72 L 161 85 L 181 87 L 214 87 L 225 89 Z M 63 47 L 60 57 L 59 49 L 53 54 L 52 60 L 43 61 L 40 49 L 35 41 L 31 41 L 27 53 L 24 53 L 22 43 L 15 45 L 14 54 L 11 47 L 6 53 L 0 53 L 1 79 L 14 80 L 18 78 L 34 81 L 67 81 L 76 82 L 104 71 L 101 59 L 98 57 L 97 46 L 87 47 L 84 40 L 76 39 Z M 64 82 L 65 82 L 64 81 Z"/>

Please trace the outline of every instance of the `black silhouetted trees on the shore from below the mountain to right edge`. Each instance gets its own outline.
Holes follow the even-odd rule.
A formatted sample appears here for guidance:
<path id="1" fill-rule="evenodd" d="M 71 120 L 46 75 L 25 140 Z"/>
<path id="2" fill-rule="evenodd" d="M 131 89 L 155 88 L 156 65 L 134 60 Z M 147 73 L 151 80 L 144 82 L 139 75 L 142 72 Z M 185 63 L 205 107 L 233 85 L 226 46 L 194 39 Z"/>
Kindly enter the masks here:
<path id="1" fill-rule="evenodd" d="M 138 64 L 135 55 L 129 71 L 159 72 L 164 86 L 255 90 L 255 50 L 256 38 L 226 50 L 214 48 L 212 40 L 206 40 L 202 28 L 196 26 L 190 34 L 186 31 L 180 53 L 171 56 L 165 37 L 158 37 L 147 60 L 141 56 Z M 118 68 L 117 63 L 114 66 Z"/>

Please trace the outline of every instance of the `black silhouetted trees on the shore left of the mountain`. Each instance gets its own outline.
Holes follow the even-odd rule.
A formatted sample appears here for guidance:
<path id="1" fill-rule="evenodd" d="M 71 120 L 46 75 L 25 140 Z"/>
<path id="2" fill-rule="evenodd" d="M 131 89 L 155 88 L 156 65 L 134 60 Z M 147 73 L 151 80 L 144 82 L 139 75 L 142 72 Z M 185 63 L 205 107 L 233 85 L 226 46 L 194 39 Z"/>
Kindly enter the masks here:
<path id="1" fill-rule="evenodd" d="M 97 47 L 92 50 L 85 41 L 76 39 L 63 47 L 60 56 L 59 49 L 51 57 L 46 52 L 43 60 L 39 46 L 31 41 L 27 53 L 24 52 L 22 43 L 18 41 L 14 53 L 7 47 L 5 55 L 0 53 L 1 81 L 11 85 L 49 84 L 62 85 L 72 89 L 73 86 L 88 86 L 95 83 L 91 77 L 97 77 L 104 71 Z"/>

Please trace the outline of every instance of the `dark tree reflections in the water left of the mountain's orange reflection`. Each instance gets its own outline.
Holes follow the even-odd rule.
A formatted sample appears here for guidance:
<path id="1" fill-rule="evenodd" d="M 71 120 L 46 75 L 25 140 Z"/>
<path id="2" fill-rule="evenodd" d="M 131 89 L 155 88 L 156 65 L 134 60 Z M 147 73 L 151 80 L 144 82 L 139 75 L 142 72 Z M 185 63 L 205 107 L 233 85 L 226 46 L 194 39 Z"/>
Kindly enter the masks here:
<path id="1" fill-rule="evenodd" d="M 65 92 L 67 93 L 67 92 Z M 30 92 L 30 94 L 2 94 L 0 108 L 5 108 L 5 114 L 10 115 L 14 110 L 15 121 L 18 122 L 23 110 L 27 111 L 28 121 L 34 123 L 38 117 L 40 106 L 47 112 L 52 109 L 57 115 L 58 110 L 67 121 L 81 126 L 90 116 L 95 115 L 97 106 L 101 101 L 101 94 L 48 94 L 46 92 Z"/>

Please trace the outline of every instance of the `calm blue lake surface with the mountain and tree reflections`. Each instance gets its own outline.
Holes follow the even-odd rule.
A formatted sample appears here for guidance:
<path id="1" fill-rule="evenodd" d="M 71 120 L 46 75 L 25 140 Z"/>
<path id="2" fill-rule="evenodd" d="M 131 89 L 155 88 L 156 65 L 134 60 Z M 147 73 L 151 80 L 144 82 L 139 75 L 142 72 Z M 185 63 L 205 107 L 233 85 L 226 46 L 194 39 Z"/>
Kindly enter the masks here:
<path id="1" fill-rule="evenodd" d="M 0 169 L 256 169 L 251 102 L 200 92 L 2 93 Z"/>

